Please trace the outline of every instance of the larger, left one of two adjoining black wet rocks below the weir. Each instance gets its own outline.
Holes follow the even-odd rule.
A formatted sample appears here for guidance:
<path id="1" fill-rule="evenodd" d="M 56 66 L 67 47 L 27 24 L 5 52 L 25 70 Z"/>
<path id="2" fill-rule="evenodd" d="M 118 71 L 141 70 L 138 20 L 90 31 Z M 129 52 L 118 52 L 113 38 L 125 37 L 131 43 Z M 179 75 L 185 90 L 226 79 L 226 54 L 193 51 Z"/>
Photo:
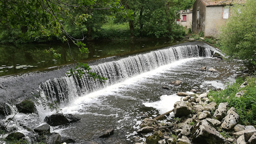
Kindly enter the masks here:
<path id="1" fill-rule="evenodd" d="M 59 126 L 69 123 L 68 119 L 62 113 L 46 116 L 44 122 L 47 122 L 50 126 Z"/>

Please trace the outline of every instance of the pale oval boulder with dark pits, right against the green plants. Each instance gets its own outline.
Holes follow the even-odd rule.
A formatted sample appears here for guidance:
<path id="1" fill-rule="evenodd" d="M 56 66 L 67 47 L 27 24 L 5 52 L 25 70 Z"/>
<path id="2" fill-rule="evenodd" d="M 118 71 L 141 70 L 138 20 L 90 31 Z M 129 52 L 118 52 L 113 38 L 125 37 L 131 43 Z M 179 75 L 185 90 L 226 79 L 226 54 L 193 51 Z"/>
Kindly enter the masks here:
<path id="1" fill-rule="evenodd" d="M 235 112 L 235 108 L 231 107 L 228 112 L 227 112 L 227 116 L 222 119 L 222 124 L 221 127 L 225 130 L 231 130 L 232 128 L 234 128 L 239 120 L 239 115 Z"/>

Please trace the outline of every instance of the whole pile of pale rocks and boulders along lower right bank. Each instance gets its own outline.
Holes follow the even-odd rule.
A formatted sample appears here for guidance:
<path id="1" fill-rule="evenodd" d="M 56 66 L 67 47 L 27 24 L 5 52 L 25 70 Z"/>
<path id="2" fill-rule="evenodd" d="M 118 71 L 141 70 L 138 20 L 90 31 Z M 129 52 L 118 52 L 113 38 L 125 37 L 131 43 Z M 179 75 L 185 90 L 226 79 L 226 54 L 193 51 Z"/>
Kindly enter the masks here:
<path id="1" fill-rule="evenodd" d="M 137 133 L 152 133 L 145 143 L 256 144 L 255 127 L 239 125 L 239 115 L 228 103 L 210 102 L 207 92 L 177 95 L 184 98 L 174 104 L 172 122 L 146 118 L 140 124 Z"/>

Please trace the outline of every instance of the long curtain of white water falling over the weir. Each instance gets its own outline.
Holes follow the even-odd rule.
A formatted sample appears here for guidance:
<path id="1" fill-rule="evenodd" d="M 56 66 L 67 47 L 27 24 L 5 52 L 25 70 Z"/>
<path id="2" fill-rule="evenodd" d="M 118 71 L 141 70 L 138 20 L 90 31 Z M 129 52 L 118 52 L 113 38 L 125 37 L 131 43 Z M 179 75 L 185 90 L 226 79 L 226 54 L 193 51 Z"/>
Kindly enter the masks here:
<path id="1" fill-rule="evenodd" d="M 40 88 L 49 100 L 63 104 L 174 61 L 200 56 L 211 56 L 211 50 L 197 45 L 167 47 L 90 66 L 93 72 L 108 79 L 105 83 L 87 76 L 81 79 L 71 76 L 49 79 L 41 83 Z"/>

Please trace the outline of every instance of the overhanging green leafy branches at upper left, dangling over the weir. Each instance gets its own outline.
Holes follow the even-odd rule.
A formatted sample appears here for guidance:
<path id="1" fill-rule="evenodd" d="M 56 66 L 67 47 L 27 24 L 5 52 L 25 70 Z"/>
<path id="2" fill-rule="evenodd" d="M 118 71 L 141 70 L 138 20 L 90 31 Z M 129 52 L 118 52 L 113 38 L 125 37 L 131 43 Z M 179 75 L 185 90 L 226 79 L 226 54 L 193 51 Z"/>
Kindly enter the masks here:
<path id="1" fill-rule="evenodd" d="M 81 9 L 86 12 L 76 12 Z M 20 36 L 26 40 L 30 38 L 52 40 L 52 37 L 57 37 L 63 42 L 73 42 L 79 47 L 81 53 L 87 53 L 88 49 L 80 41 L 84 40 L 85 36 L 83 35 L 81 39 L 73 37 L 66 31 L 63 23 L 71 20 L 76 25 L 82 25 L 92 17 L 92 10 L 102 9 L 119 13 L 123 17 L 131 17 L 133 13 L 124 9 L 120 0 L 101 0 L 99 2 L 96 0 L 0 0 L 0 23 L 1 27 L 19 28 L 22 32 Z M 60 54 L 52 48 L 46 52 L 52 53 L 54 57 L 60 57 Z M 72 57 L 71 52 L 70 55 Z M 100 80 L 105 79 L 90 72 L 87 64 L 79 63 L 74 59 L 73 61 L 76 66 L 74 69 L 70 69 L 69 76 L 75 74 L 81 77 L 83 74 L 87 74 Z"/>

